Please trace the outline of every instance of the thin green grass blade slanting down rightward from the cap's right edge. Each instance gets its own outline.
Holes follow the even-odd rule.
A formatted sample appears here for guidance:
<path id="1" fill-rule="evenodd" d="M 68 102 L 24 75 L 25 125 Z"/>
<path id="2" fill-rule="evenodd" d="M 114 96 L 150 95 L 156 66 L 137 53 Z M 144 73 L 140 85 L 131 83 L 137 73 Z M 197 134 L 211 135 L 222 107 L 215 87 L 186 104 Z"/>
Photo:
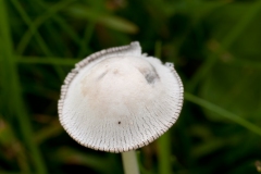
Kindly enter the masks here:
<path id="1" fill-rule="evenodd" d="M 225 117 L 225 119 L 228 119 L 241 126 L 244 126 L 245 128 L 258 134 L 261 136 L 261 128 L 248 121 L 246 121 L 245 119 L 229 112 L 229 111 L 226 111 L 225 109 L 223 108 L 220 108 L 219 105 L 215 105 L 207 100 L 203 100 L 201 98 L 198 98 L 191 94 L 188 94 L 188 92 L 185 92 L 185 99 L 190 101 L 190 102 L 194 102 L 202 108 L 206 108 L 212 112 L 215 112 L 217 114 L 220 114 L 221 116 Z"/>

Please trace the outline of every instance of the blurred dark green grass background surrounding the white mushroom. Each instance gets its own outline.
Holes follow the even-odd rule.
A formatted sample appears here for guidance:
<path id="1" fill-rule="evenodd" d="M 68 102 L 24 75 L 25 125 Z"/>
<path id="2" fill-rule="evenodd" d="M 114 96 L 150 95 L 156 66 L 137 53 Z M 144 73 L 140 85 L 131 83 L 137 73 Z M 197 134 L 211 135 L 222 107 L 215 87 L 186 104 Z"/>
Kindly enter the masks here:
<path id="1" fill-rule="evenodd" d="M 123 173 L 120 154 L 69 137 L 57 102 L 74 63 L 133 40 L 185 86 L 141 173 L 261 172 L 260 0 L 0 0 L 1 174 Z"/>

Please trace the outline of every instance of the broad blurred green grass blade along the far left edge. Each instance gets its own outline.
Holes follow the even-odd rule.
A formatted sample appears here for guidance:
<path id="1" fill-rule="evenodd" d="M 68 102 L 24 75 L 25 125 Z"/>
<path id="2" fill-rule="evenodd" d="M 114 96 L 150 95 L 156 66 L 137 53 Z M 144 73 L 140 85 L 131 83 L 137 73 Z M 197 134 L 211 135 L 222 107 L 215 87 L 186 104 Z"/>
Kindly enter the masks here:
<path id="1" fill-rule="evenodd" d="M 14 116 L 20 124 L 21 134 L 24 138 L 24 144 L 28 149 L 28 154 L 33 160 L 36 173 L 47 173 L 44 160 L 36 144 L 33 141 L 33 128 L 29 121 L 29 115 L 25 109 L 22 99 L 21 84 L 18 80 L 17 66 L 13 57 L 13 44 L 8 23 L 8 13 L 5 11 L 4 0 L 0 0 L 0 37 L 4 45 L 0 47 L 1 75 L 2 75 L 2 92 L 5 94 L 3 100 L 5 101 L 7 116 Z"/>

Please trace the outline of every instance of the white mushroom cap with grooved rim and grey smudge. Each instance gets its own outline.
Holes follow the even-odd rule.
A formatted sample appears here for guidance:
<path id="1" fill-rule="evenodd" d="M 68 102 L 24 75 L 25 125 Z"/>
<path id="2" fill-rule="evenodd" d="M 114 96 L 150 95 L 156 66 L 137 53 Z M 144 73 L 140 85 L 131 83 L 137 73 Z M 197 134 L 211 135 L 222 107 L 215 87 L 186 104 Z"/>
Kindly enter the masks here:
<path id="1" fill-rule="evenodd" d="M 83 146 L 110 152 L 153 141 L 176 122 L 183 104 L 173 64 L 141 54 L 139 42 L 87 57 L 61 90 L 65 130 Z"/>

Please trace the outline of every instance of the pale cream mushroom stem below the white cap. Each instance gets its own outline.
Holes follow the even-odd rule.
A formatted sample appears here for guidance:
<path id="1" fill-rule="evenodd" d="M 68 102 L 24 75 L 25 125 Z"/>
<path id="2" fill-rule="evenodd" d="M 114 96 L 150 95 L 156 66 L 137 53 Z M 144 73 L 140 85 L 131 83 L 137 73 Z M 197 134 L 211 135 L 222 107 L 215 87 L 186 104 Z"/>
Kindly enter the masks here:
<path id="1" fill-rule="evenodd" d="M 139 174 L 135 150 L 122 152 L 122 160 L 125 174 Z"/>

